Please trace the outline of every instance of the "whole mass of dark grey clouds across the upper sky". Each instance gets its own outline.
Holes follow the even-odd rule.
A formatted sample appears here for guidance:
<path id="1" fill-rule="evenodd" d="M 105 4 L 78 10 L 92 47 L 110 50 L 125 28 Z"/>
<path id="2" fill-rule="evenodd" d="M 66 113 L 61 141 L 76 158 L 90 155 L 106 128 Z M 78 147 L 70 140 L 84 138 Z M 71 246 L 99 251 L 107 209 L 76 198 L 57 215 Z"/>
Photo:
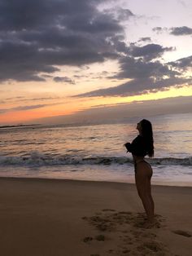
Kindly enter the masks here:
<path id="1" fill-rule="evenodd" d="M 121 21 L 134 14 L 122 8 L 99 11 L 103 2 L 0 0 L 0 81 L 41 82 L 52 77 L 75 84 L 65 73 L 54 77 L 59 66 L 118 60 L 120 72 L 108 78 L 131 81 L 77 96 L 139 95 L 191 84 L 191 77 L 184 76 L 191 57 L 163 64 L 164 52 L 174 47 L 154 44 L 147 37 L 126 45 Z M 190 28 L 172 28 L 171 33 L 189 34 Z"/>

